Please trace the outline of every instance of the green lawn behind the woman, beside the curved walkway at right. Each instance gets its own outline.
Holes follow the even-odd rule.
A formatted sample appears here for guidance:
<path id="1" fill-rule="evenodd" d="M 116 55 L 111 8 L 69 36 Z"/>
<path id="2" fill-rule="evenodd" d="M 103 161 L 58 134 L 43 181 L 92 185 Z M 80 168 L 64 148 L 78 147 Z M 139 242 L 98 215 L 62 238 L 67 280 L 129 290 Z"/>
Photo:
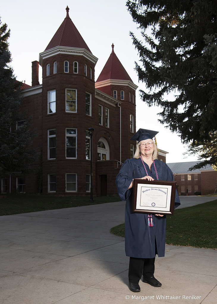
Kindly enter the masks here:
<path id="1" fill-rule="evenodd" d="M 124 224 L 111 233 L 124 237 Z M 166 244 L 217 249 L 217 200 L 177 209 L 166 217 Z"/>

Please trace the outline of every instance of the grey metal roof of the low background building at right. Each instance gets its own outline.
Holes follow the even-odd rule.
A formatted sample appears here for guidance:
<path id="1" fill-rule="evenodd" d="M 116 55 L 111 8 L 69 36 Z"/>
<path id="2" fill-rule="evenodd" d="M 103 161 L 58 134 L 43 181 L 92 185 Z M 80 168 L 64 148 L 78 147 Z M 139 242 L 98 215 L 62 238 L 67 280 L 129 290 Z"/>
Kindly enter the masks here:
<path id="1" fill-rule="evenodd" d="M 203 170 L 214 170 L 212 168 L 211 165 L 207 165 L 205 167 L 202 167 L 200 169 L 195 169 L 192 171 L 189 171 L 189 168 L 191 168 L 192 166 L 200 163 L 201 161 L 186 161 L 186 162 L 182 162 L 182 163 L 169 163 L 167 164 L 167 166 L 170 168 L 170 170 L 174 173 L 174 174 L 178 174 L 178 173 L 200 173 L 200 171 Z"/>

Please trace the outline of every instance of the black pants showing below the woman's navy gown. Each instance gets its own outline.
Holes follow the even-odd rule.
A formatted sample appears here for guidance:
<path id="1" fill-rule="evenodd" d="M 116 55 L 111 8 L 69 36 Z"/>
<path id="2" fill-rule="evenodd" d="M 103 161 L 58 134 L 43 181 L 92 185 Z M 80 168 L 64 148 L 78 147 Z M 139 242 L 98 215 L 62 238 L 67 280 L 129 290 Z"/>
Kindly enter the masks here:
<path id="1" fill-rule="evenodd" d="M 138 283 L 142 275 L 146 278 L 153 277 L 154 272 L 155 257 L 152 259 L 130 257 L 128 277 L 131 283 Z"/>

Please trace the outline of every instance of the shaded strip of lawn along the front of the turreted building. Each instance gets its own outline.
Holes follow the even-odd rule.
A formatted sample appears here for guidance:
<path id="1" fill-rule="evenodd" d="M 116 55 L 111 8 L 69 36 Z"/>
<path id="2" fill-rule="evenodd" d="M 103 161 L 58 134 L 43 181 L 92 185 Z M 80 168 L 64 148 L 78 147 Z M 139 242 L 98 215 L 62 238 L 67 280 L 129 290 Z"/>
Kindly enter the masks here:
<path id="1" fill-rule="evenodd" d="M 80 196 L 9 194 L 6 199 L 0 199 L 0 216 L 104 204 L 121 200 L 119 197 L 94 197 L 94 202 L 89 202 L 89 199 L 89 197 Z"/>

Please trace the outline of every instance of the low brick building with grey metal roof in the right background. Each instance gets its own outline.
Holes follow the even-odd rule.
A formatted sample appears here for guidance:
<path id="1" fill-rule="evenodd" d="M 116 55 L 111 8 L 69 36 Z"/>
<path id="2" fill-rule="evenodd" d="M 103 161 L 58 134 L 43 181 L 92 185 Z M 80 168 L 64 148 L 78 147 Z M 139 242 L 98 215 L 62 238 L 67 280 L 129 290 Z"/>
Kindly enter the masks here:
<path id="1" fill-rule="evenodd" d="M 201 192 L 201 195 L 212 194 L 216 188 L 217 171 L 211 165 L 201 169 L 189 171 L 189 168 L 198 161 L 167 164 L 172 170 L 174 180 L 177 181 L 179 195 L 194 195 L 194 192 Z"/>

